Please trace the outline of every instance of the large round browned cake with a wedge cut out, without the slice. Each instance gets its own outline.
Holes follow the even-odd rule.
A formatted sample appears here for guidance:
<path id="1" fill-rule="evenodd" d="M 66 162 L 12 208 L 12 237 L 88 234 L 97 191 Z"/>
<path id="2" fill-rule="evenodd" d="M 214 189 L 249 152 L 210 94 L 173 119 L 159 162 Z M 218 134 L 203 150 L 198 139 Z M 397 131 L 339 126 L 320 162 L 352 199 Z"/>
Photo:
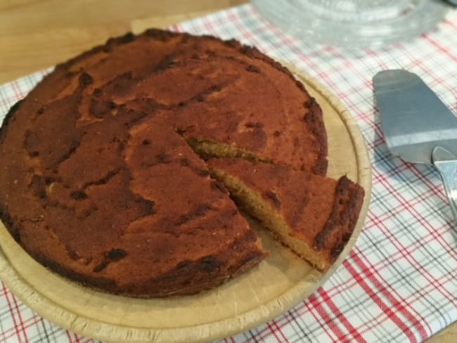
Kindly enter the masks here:
<path id="1" fill-rule="evenodd" d="M 0 219 L 34 259 L 83 285 L 192 294 L 268 255 L 207 158 L 325 175 L 326 144 L 314 98 L 256 48 L 126 34 L 57 65 L 8 112 Z"/>

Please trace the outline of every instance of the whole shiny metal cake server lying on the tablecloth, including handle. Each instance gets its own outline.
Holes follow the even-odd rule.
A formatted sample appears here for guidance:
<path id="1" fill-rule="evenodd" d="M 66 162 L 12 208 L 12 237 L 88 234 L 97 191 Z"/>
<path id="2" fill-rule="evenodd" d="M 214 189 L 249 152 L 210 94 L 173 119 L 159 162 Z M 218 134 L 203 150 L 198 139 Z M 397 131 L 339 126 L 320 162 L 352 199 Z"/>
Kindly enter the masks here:
<path id="1" fill-rule="evenodd" d="M 457 117 L 406 70 L 378 72 L 373 86 L 387 148 L 408 162 L 435 165 L 457 224 Z"/>

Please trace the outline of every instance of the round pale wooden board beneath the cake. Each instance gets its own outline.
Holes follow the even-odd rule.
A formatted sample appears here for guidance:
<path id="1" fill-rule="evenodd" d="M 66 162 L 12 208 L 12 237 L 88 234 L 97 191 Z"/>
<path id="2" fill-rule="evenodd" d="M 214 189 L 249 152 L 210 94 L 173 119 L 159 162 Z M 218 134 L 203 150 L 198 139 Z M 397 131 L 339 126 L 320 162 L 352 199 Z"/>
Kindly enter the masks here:
<path id="1" fill-rule="evenodd" d="M 344 105 L 314 79 L 290 67 L 323 108 L 328 132 L 328 176 L 346 174 L 365 188 L 354 233 L 330 270 L 319 273 L 278 245 L 255 221 L 271 255 L 214 290 L 187 297 L 133 299 L 72 283 L 34 261 L 0 225 L 0 278 L 22 302 L 57 325 L 109 342 L 207 342 L 263 323 L 314 292 L 361 231 L 371 194 L 366 145 Z"/>

